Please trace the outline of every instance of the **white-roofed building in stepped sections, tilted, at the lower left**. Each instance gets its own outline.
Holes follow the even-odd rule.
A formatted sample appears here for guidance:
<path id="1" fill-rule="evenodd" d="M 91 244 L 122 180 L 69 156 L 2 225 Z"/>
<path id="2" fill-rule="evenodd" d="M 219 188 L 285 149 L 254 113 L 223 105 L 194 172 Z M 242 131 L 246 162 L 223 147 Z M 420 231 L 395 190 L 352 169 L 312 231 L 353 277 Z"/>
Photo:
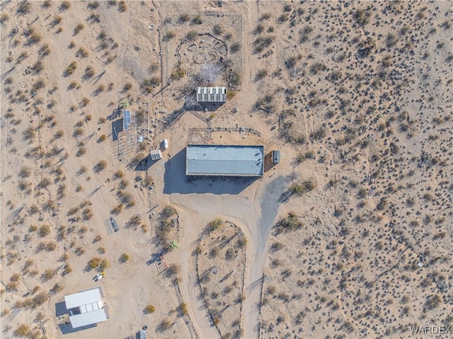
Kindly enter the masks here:
<path id="1" fill-rule="evenodd" d="M 101 323 L 101 321 L 107 320 L 99 287 L 67 295 L 64 297 L 64 303 L 67 310 L 79 309 L 78 311 L 80 312 L 79 314 L 73 314 L 71 311 L 69 321 L 71 321 L 72 328 Z"/>

